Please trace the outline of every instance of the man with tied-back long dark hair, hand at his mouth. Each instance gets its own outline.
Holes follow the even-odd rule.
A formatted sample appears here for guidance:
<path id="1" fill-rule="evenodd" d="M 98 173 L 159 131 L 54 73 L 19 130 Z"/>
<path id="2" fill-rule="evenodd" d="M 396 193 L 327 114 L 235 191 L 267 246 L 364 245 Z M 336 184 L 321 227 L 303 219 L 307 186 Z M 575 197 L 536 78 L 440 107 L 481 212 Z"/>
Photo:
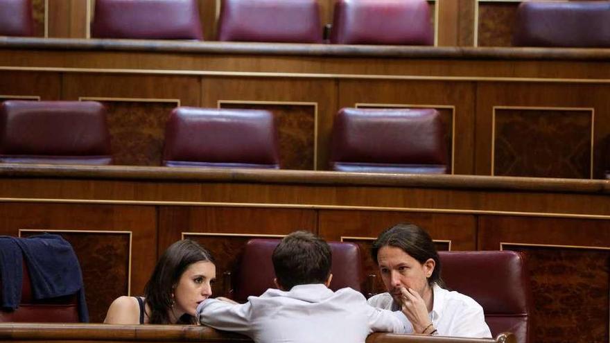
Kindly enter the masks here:
<path id="1" fill-rule="evenodd" d="M 407 333 L 491 337 L 481 306 L 442 288 L 439 256 L 424 229 L 412 224 L 391 227 L 374 241 L 371 254 L 387 292 L 371 297 L 369 304 L 401 310 Z"/>

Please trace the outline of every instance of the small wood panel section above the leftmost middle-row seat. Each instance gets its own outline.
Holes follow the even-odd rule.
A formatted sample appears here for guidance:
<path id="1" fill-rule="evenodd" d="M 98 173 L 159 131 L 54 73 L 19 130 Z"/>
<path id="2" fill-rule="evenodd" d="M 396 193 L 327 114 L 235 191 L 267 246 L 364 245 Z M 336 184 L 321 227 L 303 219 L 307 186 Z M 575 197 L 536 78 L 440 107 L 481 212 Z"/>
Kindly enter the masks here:
<path id="1" fill-rule="evenodd" d="M 59 73 L 0 71 L 2 96 L 40 96 L 41 100 L 60 100 L 61 87 Z"/>

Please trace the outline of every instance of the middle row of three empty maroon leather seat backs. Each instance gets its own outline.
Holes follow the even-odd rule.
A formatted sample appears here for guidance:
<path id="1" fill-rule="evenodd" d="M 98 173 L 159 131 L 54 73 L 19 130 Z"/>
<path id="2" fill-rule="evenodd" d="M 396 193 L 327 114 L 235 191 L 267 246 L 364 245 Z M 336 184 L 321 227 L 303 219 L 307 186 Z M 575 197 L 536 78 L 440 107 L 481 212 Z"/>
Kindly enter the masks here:
<path id="1" fill-rule="evenodd" d="M 166 124 L 164 166 L 280 168 L 271 112 L 177 107 Z M 338 112 L 331 170 L 446 173 L 444 128 L 435 109 Z M 105 108 L 95 101 L 7 100 L 0 107 L 0 161 L 112 164 Z"/>

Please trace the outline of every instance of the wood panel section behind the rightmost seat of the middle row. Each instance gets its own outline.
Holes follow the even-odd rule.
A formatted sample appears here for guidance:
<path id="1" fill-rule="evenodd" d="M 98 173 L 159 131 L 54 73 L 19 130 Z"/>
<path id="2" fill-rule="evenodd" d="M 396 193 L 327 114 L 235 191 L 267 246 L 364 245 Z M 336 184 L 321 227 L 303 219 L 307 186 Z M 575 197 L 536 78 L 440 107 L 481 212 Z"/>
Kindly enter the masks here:
<path id="1" fill-rule="evenodd" d="M 445 138 L 451 149 L 455 141 L 453 163 L 455 174 L 472 173 L 475 87 L 471 82 L 424 82 L 424 81 L 379 81 L 341 80 L 339 82 L 339 107 L 354 107 L 357 103 L 400 105 L 455 106 L 455 123 L 449 110 L 442 110 Z M 455 137 L 453 125 L 455 125 Z M 451 151 L 451 150 L 449 150 Z M 449 153 L 451 156 L 451 153 Z"/>

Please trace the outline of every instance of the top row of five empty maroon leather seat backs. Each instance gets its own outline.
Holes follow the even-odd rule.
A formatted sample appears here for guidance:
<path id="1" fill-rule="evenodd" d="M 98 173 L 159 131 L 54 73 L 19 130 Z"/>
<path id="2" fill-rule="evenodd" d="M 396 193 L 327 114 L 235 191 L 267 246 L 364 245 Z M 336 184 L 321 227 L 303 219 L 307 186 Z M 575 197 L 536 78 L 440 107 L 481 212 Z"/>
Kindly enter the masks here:
<path id="1" fill-rule="evenodd" d="M 322 43 L 316 0 L 222 0 L 218 40 Z M 524 1 L 514 46 L 610 46 L 610 1 Z M 433 44 L 426 0 L 336 0 L 334 44 Z M 0 0 L 0 35 L 33 35 L 31 0 Z M 96 0 L 92 37 L 203 37 L 197 0 Z"/>

